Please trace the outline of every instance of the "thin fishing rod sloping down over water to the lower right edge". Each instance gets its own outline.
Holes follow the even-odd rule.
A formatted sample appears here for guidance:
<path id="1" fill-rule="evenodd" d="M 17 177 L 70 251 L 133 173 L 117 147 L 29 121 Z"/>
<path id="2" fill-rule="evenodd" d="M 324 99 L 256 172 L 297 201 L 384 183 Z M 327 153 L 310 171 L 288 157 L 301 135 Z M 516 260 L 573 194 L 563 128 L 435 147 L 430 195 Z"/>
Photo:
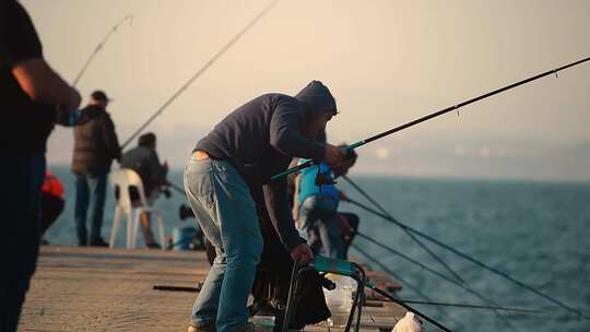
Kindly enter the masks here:
<path id="1" fill-rule="evenodd" d="M 385 215 L 385 214 L 382 214 L 382 213 L 380 213 L 378 211 L 375 211 L 375 210 L 370 209 L 369 206 L 366 206 L 363 203 L 356 202 L 354 200 L 349 199 L 346 202 L 349 202 L 351 204 L 354 204 L 354 205 L 356 205 L 356 206 L 358 206 L 358 208 L 361 208 L 361 209 L 363 209 L 363 210 L 365 210 L 365 211 L 367 211 L 369 213 L 373 213 L 373 214 L 375 214 L 377 216 L 380 216 L 381 218 L 384 218 L 384 220 L 386 220 L 388 222 L 391 222 L 391 223 L 398 225 L 399 227 L 405 228 L 405 229 L 414 233 L 415 235 L 417 235 L 417 236 L 420 236 L 422 238 L 425 238 L 425 239 L 429 240 L 430 242 L 433 242 L 433 244 L 435 244 L 435 245 L 437 245 L 439 247 L 442 247 L 442 248 L 451 251 L 452 253 L 455 253 L 455 254 L 457 254 L 457 256 L 459 256 L 459 257 L 461 257 L 461 258 L 463 258 L 463 259 L 465 259 L 465 260 L 468 260 L 468 261 L 470 261 L 470 262 L 472 262 L 472 263 L 474 263 L 474 264 L 476 264 L 476 265 L 479 265 L 479 266 L 481 266 L 481 268 L 483 268 L 483 269 L 485 269 L 485 270 L 487 270 L 489 272 L 493 272 L 494 274 L 499 275 L 499 276 L 504 277 L 505 280 L 508 280 L 508 281 L 515 283 L 516 285 L 519 285 L 520 287 L 522 287 L 524 289 L 528 289 L 528 290 L 539 295 L 540 297 L 543 297 L 544 299 L 559 306 L 560 308 L 563 308 L 563 309 L 565 309 L 565 310 L 567 310 L 569 312 L 576 313 L 578 317 L 585 318 L 587 320 L 590 319 L 587 315 L 585 315 L 580 310 L 578 310 L 578 309 L 576 309 L 576 308 L 574 308 L 574 307 L 571 307 L 569 305 L 566 305 L 563 301 L 560 301 L 560 300 L 558 300 L 558 299 L 556 299 L 556 298 L 554 298 L 554 297 L 552 297 L 550 295 L 546 295 L 546 294 L 542 293 L 541 290 L 535 289 L 532 286 L 529 286 L 529 285 L 524 284 L 523 282 L 510 276 L 509 274 L 507 274 L 507 273 L 505 273 L 503 271 L 499 271 L 498 269 L 492 268 L 492 266 L 485 264 L 484 262 L 482 262 L 482 261 L 480 261 L 480 260 L 477 260 L 475 258 L 472 258 L 471 256 L 469 256 L 469 254 L 467 254 L 467 253 L 464 253 L 462 251 L 459 251 L 458 249 L 455 249 L 455 248 L 452 248 L 452 247 L 450 247 L 450 246 L 448 246 L 448 245 L 446 245 L 446 244 L 444 244 L 444 242 L 441 242 L 441 241 L 439 241 L 439 240 L 437 240 L 437 239 L 435 239 L 435 238 L 433 238 L 433 237 L 430 237 L 430 236 L 428 236 L 428 235 L 426 235 L 426 234 L 424 234 L 424 233 L 422 233 L 422 232 L 420 232 L 417 229 L 414 229 L 414 228 L 412 228 L 412 227 L 397 221 L 396 218 L 391 218 L 391 217 L 389 217 L 389 216 L 387 216 L 387 215 Z"/>

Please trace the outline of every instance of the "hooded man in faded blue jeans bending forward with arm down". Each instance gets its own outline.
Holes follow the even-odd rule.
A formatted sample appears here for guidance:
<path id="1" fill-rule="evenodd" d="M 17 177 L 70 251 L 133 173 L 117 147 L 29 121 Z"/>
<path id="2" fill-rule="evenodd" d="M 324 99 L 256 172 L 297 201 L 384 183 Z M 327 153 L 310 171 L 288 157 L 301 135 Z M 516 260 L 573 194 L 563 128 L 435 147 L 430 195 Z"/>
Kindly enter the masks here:
<path id="1" fill-rule="evenodd" d="M 295 97 L 266 94 L 229 114 L 197 144 L 185 189 L 216 258 L 197 297 L 189 332 L 251 331 L 246 303 L 262 251 L 258 209 L 266 209 L 293 260 L 314 258 L 295 229 L 285 170 L 294 156 L 338 165 L 341 149 L 315 141 L 337 114 L 319 81 Z"/>

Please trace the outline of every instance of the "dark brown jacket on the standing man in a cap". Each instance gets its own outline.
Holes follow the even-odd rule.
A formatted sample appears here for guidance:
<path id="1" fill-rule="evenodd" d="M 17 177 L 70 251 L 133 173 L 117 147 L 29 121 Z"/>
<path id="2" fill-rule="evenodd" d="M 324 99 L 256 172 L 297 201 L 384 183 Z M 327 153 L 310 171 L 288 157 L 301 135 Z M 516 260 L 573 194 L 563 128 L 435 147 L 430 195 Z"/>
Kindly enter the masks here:
<path id="1" fill-rule="evenodd" d="M 88 105 L 74 128 L 74 174 L 104 174 L 110 170 L 113 159 L 120 159 L 121 149 L 115 124 L 103 107 Z"/>

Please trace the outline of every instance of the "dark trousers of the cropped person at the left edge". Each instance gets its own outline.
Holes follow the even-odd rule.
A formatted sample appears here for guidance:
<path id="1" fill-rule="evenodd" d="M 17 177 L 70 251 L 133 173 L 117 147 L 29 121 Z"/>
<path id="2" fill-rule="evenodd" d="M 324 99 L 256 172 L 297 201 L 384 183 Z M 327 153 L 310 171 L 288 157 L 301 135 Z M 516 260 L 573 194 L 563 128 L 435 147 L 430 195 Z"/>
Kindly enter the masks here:
<path id="1" fill-rule="evenodd" d="M 39 254 L 45 155 L 2 157 L 0 174 L 0 331 L 13 332 Z"/>

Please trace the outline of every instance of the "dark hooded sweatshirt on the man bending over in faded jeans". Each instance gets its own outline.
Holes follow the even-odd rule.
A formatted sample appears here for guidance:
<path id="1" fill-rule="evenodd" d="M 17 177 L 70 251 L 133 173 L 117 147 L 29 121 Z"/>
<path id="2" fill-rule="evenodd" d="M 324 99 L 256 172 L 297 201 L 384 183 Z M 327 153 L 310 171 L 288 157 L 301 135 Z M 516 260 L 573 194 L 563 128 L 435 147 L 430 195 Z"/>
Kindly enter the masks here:
<path id="1" fill-rule="evenodd" d="M 290 250 L 305 240 L 291 215 L 286 179 L 270 178 L 285 170 L 293 157 L 323 158 L 324 145 L 304 137 L 304 129 L 311 117 L 335 111 L 328 87 L 312 81 L 295 97 L 266 94 L 237 108 L 196 146 L 236 167 Z"/>

